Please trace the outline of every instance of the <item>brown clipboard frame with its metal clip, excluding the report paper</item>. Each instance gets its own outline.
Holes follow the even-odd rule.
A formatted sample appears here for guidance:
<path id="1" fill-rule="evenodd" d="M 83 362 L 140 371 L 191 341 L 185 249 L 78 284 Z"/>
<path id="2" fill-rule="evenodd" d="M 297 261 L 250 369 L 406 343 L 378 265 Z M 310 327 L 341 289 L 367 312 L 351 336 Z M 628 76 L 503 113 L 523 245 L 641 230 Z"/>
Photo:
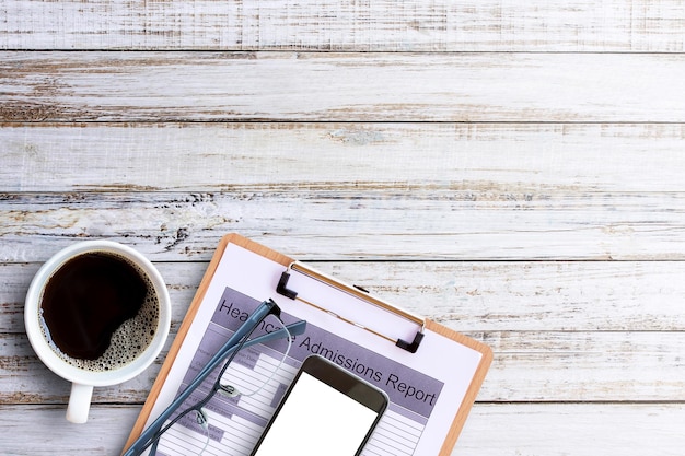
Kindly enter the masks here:
<path id="1" fill-rule="evenodd" d="M 222 260 L 224 253 L 229 246 L 236 246 L 248 250 L 266 260 L 272 261 L 277 265 L 280 265 L 282 271 L 280 272 L 280 277 L 278 277 L 277 282 L 271 288 L 274 289 L 274 294 L 280 296 L 283 300 L 290 300 L 298 305 L 301 306 L 310 306 L 315 311 L 326 314 L 326 317 L 335 318 L 337 320 L 342 321 L 345 325 L 353 326 L 355 330 L 361 330 L 370 334 L 370 338 L 374 338 L 378 340 L 378 343 L 385 343 L 390 346 L 394 344 L 393 350 L 400 350 L 405 354 L 400 354 L 400 356 L 405 356 L 408 359 L 414 359 L 413 356 L 418 356 L 416 360 L 421 356 L 426 356 L 426 348 L 423 344 L 423 337 L 427 334 L 430 334 L 431 338 L 439 338 L 449 341 L 446 343 L 454 344 L 455 348 L 460 348 L 462 350 L 469 350 L 477 354 L 477 361 L 475 361 L 473 372 L 469 377 L 466 378 L 465 387 L 463 391 L 463 397 L 461 399 L 461 404 L 458 408 L 455 410 L 453 414 L 453 419 L 451 419 L 451 423 L 449 423 L 449 429 L 444 433 L 442 437 L 443 442 L 440 445 L 438 455 L 439 456 L 449 456 L 456 444 L 456 440 L 464 426 L 466 421 L 466 417 L 471 411 L 473 404 L 475 402 L 476 396 L 483 382 L 485 381 L 485 376 L 487 371 L 492 362 L 492 351 L 491 349 L 474 339 L 471 339 L 464 335 L 461 335 L 450 328 L 446 328 L 433 320 L 422 318 L 418 315 L 404 311 L 399 307 L 396 307 L 372 294 L 368 293 L 365 290 L 360 289 L 355 285 L 349 285 L 339 280 L 330 278 L 322 272 L 316 271 L 313 268 L 310 268 L 306 265 L 303 265 L 294 259 L 272 250 L 268 247 L 265 247 L 254 241 L 251 241 L 246 237 L 243 237 L 239 234 L 228 234 L 223 236 L 214 252 L 212 259 L 200 281 L 198 290 L 190 303 L 190 306 L 186 313 L 186 316 L 178 329 L 177 336 L 172 343 L 170 351 L 166 355 L 166 359 L 158 374 L 158 377 L 152 385 L 150 394 L 143 405 L 143 408 L 138 416 L 138 419 L 131 430 L 131 433 L 126 442 L 125 448 L 131 445 L 131 443 L 140 435 L 143 431 L 146 423 L 151 418 L 151 413 L 153 411 L 153 406 L 155 405 L 160 393 L 162 391 L 165 382 L 172 371 L 172 366 L 176 362 L 178 353 L 188 337 L 188 332 L 190 327 L 200 309 L 200 305 L 205 300 L 205 295 L 212 283 L 213 280 L 218 280 L 216 278 L 217 269 L 219 268 L 219 264 Z M 305 287 L 301 288 L 302 281 L 310 281 L 310 283 L 315 282 L 314 287 Z M 313 293 L 312 290 L 332 290 L 335 293 L 344 293 L 346 295 L 351 296 L 355 302 L 360 303 L 360 308 L 356 309 L 355 317 L 350 316 L 347 312 L 340 312 L 338 309 L 330 309 L 329 305 L 324 305 L 323 302 L 317 300 L 317 296 Z M 360 312 L 361 311 L 361 312 Z M 365 320 L 361 321 L 358 317 L 359 315 L 365 316 Z M 387 315 L 388 318 L 394 318 L 396 321 L 399 321 L 399 325 L 403 328 L 397 334 L 393 332 L 394 327 L 392 328 L 379 328 L 378 323 L 381 320 L 385 320 L 388 318 L 379 317 L 380 315 Z M 370 324 L 371 323 L 371 324 Z M 375 324 L 375 325 L 374 325 Z M 381 325 L 382 326 L 382 325 Z M 387 347 L 385 347 L 387 350 Z M 398 383 L 390 383 L 393 378 L 388 378 L 388 385 L 392 387 L 402 387 L 404 384 Z M 404 389 L 407 389 L 407 386 L 404 385 Z M 407 393 L 408 394 L 408 393 Z M 438 399 L 441 400 L 441 399 Z M 445 399 L 445 400 L 449 400 Z"/>

